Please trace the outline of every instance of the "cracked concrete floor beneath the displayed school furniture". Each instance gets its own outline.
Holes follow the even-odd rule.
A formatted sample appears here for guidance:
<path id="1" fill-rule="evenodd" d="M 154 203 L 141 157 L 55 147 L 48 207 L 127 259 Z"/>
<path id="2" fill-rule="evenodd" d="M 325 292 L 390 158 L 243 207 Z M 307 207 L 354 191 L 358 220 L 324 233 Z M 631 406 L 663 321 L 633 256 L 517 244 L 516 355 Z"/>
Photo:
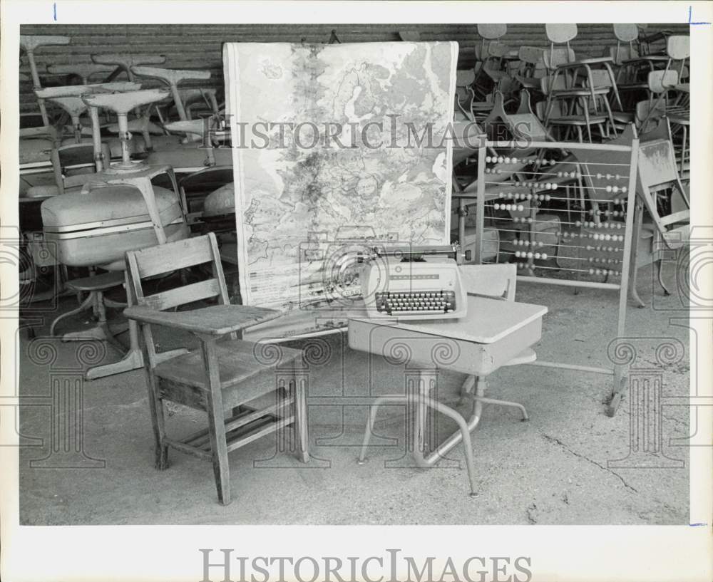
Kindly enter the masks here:
<path id="1" fill-rule="evenodd" d="M 665 297 L 652 285 L 651 269 L 640 271 L 638 289 L 648 305 L 639 309 L 630 303 L 627 337 L 635 338 L 635 365 L 645 368 L 656 365 L 661 338 L 681 341 L 684 358 L 657 371 L 662 373 L 664 397 L 687 396 L 688 330 L 670 323 L 672 317 L 687 316 L 682 307 L 686 300 L 679 296 L 672 272 L 667 282 L 674 293 Z M 575 296 L 571 289 L 520 284 L 518 301 L 550 308 L 536 346 L 540 359 L 608 365 L 606 346 L 615 337 L 615 292 L 583 290 Z M 65 298 L 60 308 L 73 305 L 73 298 Z M 38 336 L 43 334 L 46 327 L 38 330 Z M 210 463 L 171 451 L 168 470 L 153 468 L 141 370 L 81 384 L 79 448 L 86 457 L 102 459 L 103 468 L 88 467 L 91 462 L 81 454 L 73 457 L 72 468 L 32 467 L 32 459 L 48 457 L 46 464 L 56 465 L 66 458 L 57 451 L 50 454 L 57 441 L 47 395 L 53 379 L 76 378 L 68 367 L 76 366 L 78 355 L 76 344 L 51 341 L 56 360 L 37 363 L 39 343 L 22 341 L 20 386 L 27 405 L 21 408 L 20 432 L 43 442 L 21 447 L 21 524 L 688 523 L 688 451 L 669 441 L 689 434 L 689 410 L 662 410 L 662 452 L 680 459 L 683 467 L 607 467 L 607 462 L 629 454 L 630 415 L 628 398 L 614 418 L 604 414 L 611 389 L 605 375 L 534 366 L 503 368 L 491 375 L 489 395 L 522 402 L 532 420 L 518 422 L 514 410 L 486 406 L 473 434 L 480 475 L 477 499 L 468 497 L 462 446 L 434 469 L 411 466 L 402 408 L 391 408 L 384 412 L 385 420 L 377 422 L 376 433 L 384 437 L 381 445 L 389 446 L 375 446 L 369 462 L 356 464 L 366 420 L 369 362 L 366 354 L 349 350 L 345 343 L 344 336 L 332 336 L 331 356 L 312 369 L 312 461 L 303 465 L 279 452 L 272 437 L 232 452 L 234 501 L 224 507 L 217 504 Z M 31 360 L 28 348 L 33 345 Z M 110 349 L 106 360 L 113 359 L 116 353 Z M 380 359 L 372 363 L 375 394 L 403 390 L 401 366 Z M 457 402 L 462 381 L 461 375 L 443 374 L 440 399 Z M 45 405 L 33 405 L 38 403 Z M 201 415 L 180 407 L 169 410 L 168 430 L 175 434 L 198 430 L 201 422 Z M 438 430 L 445 436 L 453 425 L 443 420 Z M 659 464 L 666 464 L 663 461 Z"/>

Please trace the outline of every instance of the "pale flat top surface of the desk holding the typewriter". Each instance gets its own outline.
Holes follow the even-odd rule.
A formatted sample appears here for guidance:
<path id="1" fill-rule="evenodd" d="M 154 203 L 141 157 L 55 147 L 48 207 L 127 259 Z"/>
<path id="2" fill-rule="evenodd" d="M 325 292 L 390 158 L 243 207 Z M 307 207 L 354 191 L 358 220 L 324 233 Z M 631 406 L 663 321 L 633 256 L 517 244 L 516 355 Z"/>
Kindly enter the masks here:
<path id="1" fill-rule="evenodd" d="M 495 343 L 510 333 L 526 326 L 547 313 L 547 308 L 532 303 L 503 301 L 491 297 L 468 296 L 468 315 L 460 319 L 433 319 L 423 321 L 398 321 L 369 317 L 350 318 L 374 326 L 398 327 L 426 333 L 430 336 Z"/>

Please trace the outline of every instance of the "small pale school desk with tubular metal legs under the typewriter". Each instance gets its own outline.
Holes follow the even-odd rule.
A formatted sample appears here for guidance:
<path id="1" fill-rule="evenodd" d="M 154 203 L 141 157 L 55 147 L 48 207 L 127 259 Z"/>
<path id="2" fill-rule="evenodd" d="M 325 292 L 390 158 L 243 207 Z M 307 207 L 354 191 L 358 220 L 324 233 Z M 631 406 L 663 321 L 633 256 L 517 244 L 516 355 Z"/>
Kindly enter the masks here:
<path id="1" fill-rule="evenodd" d="M 444 454 L 463 441 L 471 497 L 476 497 L 476 472 L 473 464 L 471 432 L 481 419 L 486 402 L 518 407 L 528 420 L 522 405 L 483 397 L 483 390 L 470 395 L 471 417 L 466 420 L 453 408 L 431 397 L 436 386 L 435 371 L 452 370 L 473 377 L 486 376 L 502 365 L 513 363 L 540 340 L 542 318 L 547 308 L 530 303 L 468 296 L 468 315 L 461 319 L 433 321 L 383 321 L 368 317 L 349 318 L 349 347 L 381 355 L 392 363 L 405 363 L 416 369 L 417 381 L 406 386 L 406 393 L 377 397 L 371 405 L 359 462 L 364 462 L 376 410 L 384 402 L 414 405 L 414 459 L 423 467 L 432 467 Z M 466 381 L 466 384 L 468 381 Z M 484 386 L 484 383 L 483 383 Z M 452 418 L 458 430 L 426 456 L 424 432 L 428 409 Z"/>

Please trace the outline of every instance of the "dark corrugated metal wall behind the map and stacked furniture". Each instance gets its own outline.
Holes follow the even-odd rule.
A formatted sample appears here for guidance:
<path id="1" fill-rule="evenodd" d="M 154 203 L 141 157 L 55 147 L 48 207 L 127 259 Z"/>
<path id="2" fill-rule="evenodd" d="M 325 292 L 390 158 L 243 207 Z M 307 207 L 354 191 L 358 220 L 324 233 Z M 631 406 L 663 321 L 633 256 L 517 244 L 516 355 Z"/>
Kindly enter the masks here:
<path id="1" fill-rule="evenodd" d="M 600 56 L 605 46 L 615 43 L 611 24 L 581 24 L 572 42 L 578 56 Z M 687 24 L 650 25 L 650 33 L 669 29 L 688 33 Z M 212 72 L 212 86 L 222 90 L 222 43 L 300 42 L 324 43 L 332 30 L 339 41 L 397 41 L 399 31 L 418 31 L 424 41 L 457 41 L 459 68 L 473 63 L 473 46 L 480 43 L 475 24 L 163 24 L 163 25 L 26 25 L 21 34 L 54 34 L 71 38 L 68 46 L 48 46 L 36 53 L 43 85 L 63 84 L 63 78 L 43 74 L 49 64 L 90 61 L 96 53 L 130 52 L 164 54 L 170 68 L 205 68 Z M 502 39 L 510 46 L 547 46 L 544 24 L 511 24 Z M 20 71 L 29 75 L 27 58 Z M 99 79 L 98 79 L 99 80 Z M 36 110 L 32 84 L 20 83 L 21 111 Z M 150 83 L 145 83 L 150 86 Z M 204 84 L 205 86 L 205 84 Z"/>

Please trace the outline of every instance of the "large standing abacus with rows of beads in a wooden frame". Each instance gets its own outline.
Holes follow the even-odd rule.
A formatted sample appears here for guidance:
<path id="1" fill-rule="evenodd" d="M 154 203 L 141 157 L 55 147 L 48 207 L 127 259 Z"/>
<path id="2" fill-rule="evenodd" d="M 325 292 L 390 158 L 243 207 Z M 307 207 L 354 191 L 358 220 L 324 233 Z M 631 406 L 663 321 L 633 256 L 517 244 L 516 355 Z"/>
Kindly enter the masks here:
<path id="1" fill-rule="evenodd" d="M 471 195 L 476 232 L 498 229 L 498 260 L 517 264 L 518 281 L 618 291 L 618 337 L 625 331 L 638 146 L 638 139 L 627 145 L 533 141 L 526 147 L 485 141 Z M 484 262 L 482 248 L 476 239 L 477 263 Z M 533 364 L 612 375 L 607 414 L 614 415 L 625 387 L 623 366 Z"/>

